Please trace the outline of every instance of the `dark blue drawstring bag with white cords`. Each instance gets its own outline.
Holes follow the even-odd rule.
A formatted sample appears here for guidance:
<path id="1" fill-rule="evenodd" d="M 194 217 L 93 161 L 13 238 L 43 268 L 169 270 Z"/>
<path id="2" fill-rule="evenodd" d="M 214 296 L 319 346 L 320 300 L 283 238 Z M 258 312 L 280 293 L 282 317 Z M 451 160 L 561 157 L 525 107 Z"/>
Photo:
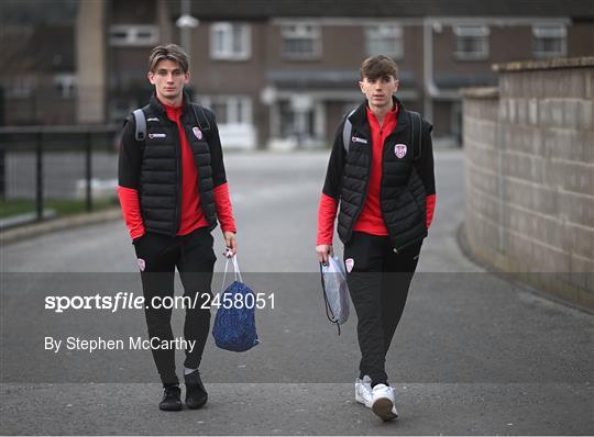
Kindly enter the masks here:
<path id="1" fill-rule="evenodd" d="M 227 258 L 220 306 L 215 317 L 212 337 L 215 344 L 221 349 L 243 352 L 260 343 L 255 327 L 255 295 L 243 282 L 238 257 L 233 255 L 231 259 L 235 271 L 235 280 L 223 291 L 229 267 L 229 258 Z M 251 298 L 248 299 L 248 295 L 251 295 Z"/>

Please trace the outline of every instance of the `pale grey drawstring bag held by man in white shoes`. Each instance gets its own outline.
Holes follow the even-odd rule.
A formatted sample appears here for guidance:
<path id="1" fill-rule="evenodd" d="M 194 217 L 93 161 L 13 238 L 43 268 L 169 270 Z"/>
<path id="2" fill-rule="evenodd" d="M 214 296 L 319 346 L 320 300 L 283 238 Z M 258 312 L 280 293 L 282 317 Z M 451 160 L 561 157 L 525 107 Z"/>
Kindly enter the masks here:
<path id="1" fill-rule="evenodd" d="M 328 257 L 327 265 L 320 262 L 320 274 L 326 316 L 337 324 L 340 335 L 340 325 L 349 320 L 349 287 L 344 264 L 337 256 Z"/>

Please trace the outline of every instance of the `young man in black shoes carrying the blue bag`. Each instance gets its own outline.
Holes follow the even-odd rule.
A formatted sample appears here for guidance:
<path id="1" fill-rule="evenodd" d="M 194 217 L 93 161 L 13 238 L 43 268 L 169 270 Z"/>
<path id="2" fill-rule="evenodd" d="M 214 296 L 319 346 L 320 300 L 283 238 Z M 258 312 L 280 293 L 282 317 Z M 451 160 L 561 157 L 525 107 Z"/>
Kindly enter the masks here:
<path id="1" fill-rule="evenodd" d="M 200 408 L 208 400 L 198 367 L 210 329 L 210 285 L 217 257 L 210 232 L 221 224 L 228 247 L 237 253 L 235 223 L 229 198 L 221 142 L 215 114 L 184 93 L 188 57 L 169 44 L 155 47 L 148 59 L 155 87 L 142 113 L 127 117 L 119 159 L 119 197 L 134 244 L 145 298 L 152 354 L 164 386 L 161 410 L 182 410 L 175 348 L 187 344 L 184 381 L 186 405 Z M 173 338 L 172 310 L 161 305 L 173 296 L 175 268 L 184 285 L 184 339 Z"/>

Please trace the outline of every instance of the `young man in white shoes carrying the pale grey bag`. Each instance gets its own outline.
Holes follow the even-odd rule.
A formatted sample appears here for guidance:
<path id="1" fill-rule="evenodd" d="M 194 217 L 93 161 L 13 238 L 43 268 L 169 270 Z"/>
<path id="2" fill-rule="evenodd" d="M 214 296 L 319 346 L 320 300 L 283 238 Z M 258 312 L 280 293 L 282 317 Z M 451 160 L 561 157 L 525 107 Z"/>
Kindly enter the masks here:
<path id="1" fill-rule="evenodd" d="M 365 96 L 338 128 L 318 214 L 316 251 L 344 244 L 344 265 L 361 349 L 355 400 L 384 421 L 397 418 L 385 358 L 400 321 L 436 204 L 432 126 L 394 97 L 397 66 L 386 56 L 361 65 Z M 395 274 L 397 273 L 397 274 Z"/>

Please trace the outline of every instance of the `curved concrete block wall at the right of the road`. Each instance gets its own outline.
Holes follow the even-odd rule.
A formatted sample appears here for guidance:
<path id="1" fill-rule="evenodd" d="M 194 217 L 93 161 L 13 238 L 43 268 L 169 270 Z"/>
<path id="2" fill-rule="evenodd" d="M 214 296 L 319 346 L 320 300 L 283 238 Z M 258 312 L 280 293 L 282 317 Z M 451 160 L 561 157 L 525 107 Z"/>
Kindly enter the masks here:
<path id="1" fill-rule="evenodd" d="M 594 57 L 494 69 L 464 92 L 470 249 L 594 310 Z"/>

